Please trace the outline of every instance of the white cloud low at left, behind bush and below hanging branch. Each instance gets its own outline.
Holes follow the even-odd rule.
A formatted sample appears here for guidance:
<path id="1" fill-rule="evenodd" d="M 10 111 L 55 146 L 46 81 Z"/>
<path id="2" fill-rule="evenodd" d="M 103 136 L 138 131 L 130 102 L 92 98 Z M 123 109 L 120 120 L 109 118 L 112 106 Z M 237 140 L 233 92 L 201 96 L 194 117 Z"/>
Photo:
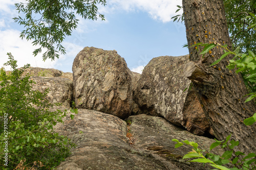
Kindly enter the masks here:
<path id="1" fill-rule="evenodd" d="M 19 33 L 17 30 L 0 31 L 0 67 L 8 61 L 7 53 L 12 53 L 14 59 L 18 61 L 18 67 L 31 64 L 33 67 L 53 68 L 57 59 L 55 61 L 48 59 L 44 62 L 40 54 L 34 57 L 32 52 L 36 46 L 32 45 L 32 41 L 20 39 Z"/>

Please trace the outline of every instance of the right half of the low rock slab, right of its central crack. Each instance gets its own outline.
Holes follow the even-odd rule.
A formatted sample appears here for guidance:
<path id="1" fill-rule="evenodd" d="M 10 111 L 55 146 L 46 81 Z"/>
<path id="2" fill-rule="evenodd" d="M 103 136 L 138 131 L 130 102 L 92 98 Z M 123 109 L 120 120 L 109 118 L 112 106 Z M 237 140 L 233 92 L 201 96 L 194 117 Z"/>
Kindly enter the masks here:
<path id="1" fill-rule="evenodd" d="M 215 142 L 214 139 L 191 134 L 169 123 L 166 119 L 157 116 L 140 114 L 130 116 L 127 120 L 131 121 L 131 133 L 133 136 L 136 136 L 134 148 L 151 153 L 156 159 L 161 157 L 163 159 L 159 160 L 162 162 L 166 160 L 169 164 L 172 163 L 180 169 L 212 169 L 212 166 L 209 165 L 202 166 L 202 164 L 182 160 L 182 157 L 188 152 L 191 152 L 192 148 L 183 145 L 182 147 L 174 149 L 176 142 L 172 141 L 172 139 L 197 142 L 199 148 L 206 151 L 209 151 L 211 143 Z M 211 150 L 211 153 L 217 155 L 222 155 L 224 152 L 225 151 L 219 147 Z M 166 169 L 172 168 L 167 166 Z"/>

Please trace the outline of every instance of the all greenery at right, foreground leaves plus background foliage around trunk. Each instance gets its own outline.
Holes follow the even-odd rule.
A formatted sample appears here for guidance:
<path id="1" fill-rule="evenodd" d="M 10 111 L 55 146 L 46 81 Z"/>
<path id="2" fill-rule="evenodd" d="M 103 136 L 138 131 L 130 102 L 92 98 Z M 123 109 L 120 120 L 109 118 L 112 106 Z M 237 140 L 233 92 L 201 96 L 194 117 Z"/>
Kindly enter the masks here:
<path id="1" fill-rule="evenodd" d="M 231 13 L 231 8 L 229 11 L 227 11 L 227 16 L 228 16 L 228 21 L 229 21 L 229 31 L 231 31 L 231 37 L 233 37 L 233 40 L 236 40 L 236 43 L 233 45 L 233 50 L 229 50 L 227 45 L 221 45 L 217 42 L 210 43 L 210 44 L 202 44 L 202 43 L 197 43 L 192 46 L 198 46 L 202 45 L 204 46 L 204 49 L 200 53 L 200 55 L 206 54 L 206 53 L 211 53 L 211 49 L 217 46 L 220 46 L 223 48 L 224 54 L 216 60 L 214 63 L 211 65 L 214 66 L 215 64 L 218 64 L 223 58 L 225 58 L 228 55 L 233 55 L 233 59 L 229 60 L 229 65 L 227 68 L 229 69 L 234 69 L 236 68 L 237 73 L 241 73 L 243 76 L 244 82 L 249 90 L 249 98 L 245 102 L 249 102 L 253 100 L 256 97 L 256 58 L 255 58 L 255 39 L 253 37 L 255 36 L 255 28 L 256 28 L 256 16 L 255 16 L 255 1 L 225 1 L 225 2 L 231 2 L 230 4 L 236 4 L 234 5 L 234 12 Z M 249 4 L 250 7 L 253 7 L 252 10 L 253 12 L 239 12 L 239 7 L 240 5 L 245 7 L 246 2 L 254 2 L 253 4 Z M 243 4 L 244 3 L 244 4 Z M 226 4 L 225 4 L 226 5 Z M 229 6 L 231 7 L 231 6 Z M 225 8 L 227 8 L 225 6 Z M 180 8 L 179 8 L 180 9 Z M 233 8 L 232 8 L 233 10 Z M 242 10 L 248 10 L 242 8 Z M 232 15 L 231 15 L 232 14 Z M 242 14 L 246 14 L 246 17 L 242 17 Z M 231 16 L 236 15 L 240 16 L 240 20 L 238 17 L 231 18 Z M 181 17 L 181 16 L 175 16 L 174 18 Z M 238 19 L 238 20 L 237 20 Z M 238 22 L 239 21 L 239 22 Z M 231 22 L 233 23 L 233 26 L 230 26 Z M 245 26 L 241 25 L 237 26 L 238 23 L 243 22 L 244 25 L 246 23 L 246 29 Z M 242 26 L 242 27 L 241 27 Z M 242 29 L 242 31 L 241 31 Z M 244 32 L 244 34 L 242 34 Z M 251 37 L 250 37 L 251 36 Z M 249 38 L 249 39 L 248 39 Z M 250 38 L 252 38 L 250 40 Z M 241 45 L 241 47 L 239 46 Z M 197 48 L 198 50 L 199 48 Z M 242 52 L 241 52 L 242 51 Z M 244 51 L 247 51 L 245 53 Z M 253 52 L 254 51 L 254 52 Z M 256 113 L 254 113 L 253 116 L 244 119 L 244 124 L 247 126 L 253 125 L 256 122 Z M 254 126 L 254 125 L 253 125 Z M 209 151 L 212 149 L 221 146 L 221 148 L 225 148 L 226 152 L 223 155 L 215 155 L 210 152 L 207 152 L 205 150 L 202 150 L 199 148 L 198 143 L 196 142 L 190 142 L 188 140 L 184 141 L 179 141 L 177 139 L 173 139 L 173 141 L 177 142 L 175 145 L 175 148 L 181 147 L 183 144 L 190 145 L 192 147 L 192 151 L 189 152 L 188 154 L 183 156 L 183 159 L 188 159 L 188 158 L 197 158 L 194 160 L 190 160 L 190 162 L 201 162 L 201 163 L 209 163 L 211 166 L 215 167 L 216 169 L 222 169 L 222 170 L 253 170 L 256 169 L 256 153 L 249 153 L 249 154 L 244 154 L 243 152 L 237 151 L 235 152 L 233 149 L 235 147 L 239 147 L 239 141 L 235 140 L 230 140 L 231 134 L 226 137 L 226 140 L 219 141 L 215 139 L 215 142 L 211 144 Z M 232 168 L 227 168 L 226 166 L 223 166 L 225 164 L 233 164 Z"/>

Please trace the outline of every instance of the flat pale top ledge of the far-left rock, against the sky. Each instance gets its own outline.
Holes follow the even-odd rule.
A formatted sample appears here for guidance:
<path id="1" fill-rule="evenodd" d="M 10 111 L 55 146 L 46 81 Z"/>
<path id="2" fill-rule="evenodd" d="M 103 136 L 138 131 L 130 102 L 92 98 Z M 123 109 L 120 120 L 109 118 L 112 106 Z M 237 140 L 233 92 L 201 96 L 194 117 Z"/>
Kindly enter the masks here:
<path id="1" fill-rule="evenodd" d="M 73 81 L 73 74 L 71 72 L 62 72 L 57 69 L 53 68 L 39 68 L 39 67 L 29 67 L 25 69 L 23 75 L 30 75 L 30 76 L 38 76 L 38 77 L 61 77 L 67 78 Z"/>

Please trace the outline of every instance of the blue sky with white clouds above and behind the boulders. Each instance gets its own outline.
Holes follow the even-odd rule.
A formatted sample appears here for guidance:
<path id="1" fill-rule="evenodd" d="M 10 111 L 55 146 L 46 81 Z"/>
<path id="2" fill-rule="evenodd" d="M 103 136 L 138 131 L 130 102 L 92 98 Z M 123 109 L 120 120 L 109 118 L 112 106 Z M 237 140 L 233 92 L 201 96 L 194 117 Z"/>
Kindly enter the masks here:
<path id="1" fill-rule="evenodd" d="M 72 36 L 63 42 L 67 54 L 46 62 L 41 55 L 32 55 L 36 47 L 31 41 L 19 38 L 23 27 L 12 19 L 18 16 L 14 8 L 17 2 L 20 0 L 0 0 L 0 67 L 8 60 L 6 54 L 12 53 L 18 67 L 29 63 L 72 72 L 73 60 L 85 46 L 116 50 L 137 72 L 154 57 L 188 54 L 182 47 L 186 43 L 184 24 L 170 20 L 177 15 L 181 0 L 107 0 L 107 6 L 99 7 L 105 21 L 81 19 Z"/>

